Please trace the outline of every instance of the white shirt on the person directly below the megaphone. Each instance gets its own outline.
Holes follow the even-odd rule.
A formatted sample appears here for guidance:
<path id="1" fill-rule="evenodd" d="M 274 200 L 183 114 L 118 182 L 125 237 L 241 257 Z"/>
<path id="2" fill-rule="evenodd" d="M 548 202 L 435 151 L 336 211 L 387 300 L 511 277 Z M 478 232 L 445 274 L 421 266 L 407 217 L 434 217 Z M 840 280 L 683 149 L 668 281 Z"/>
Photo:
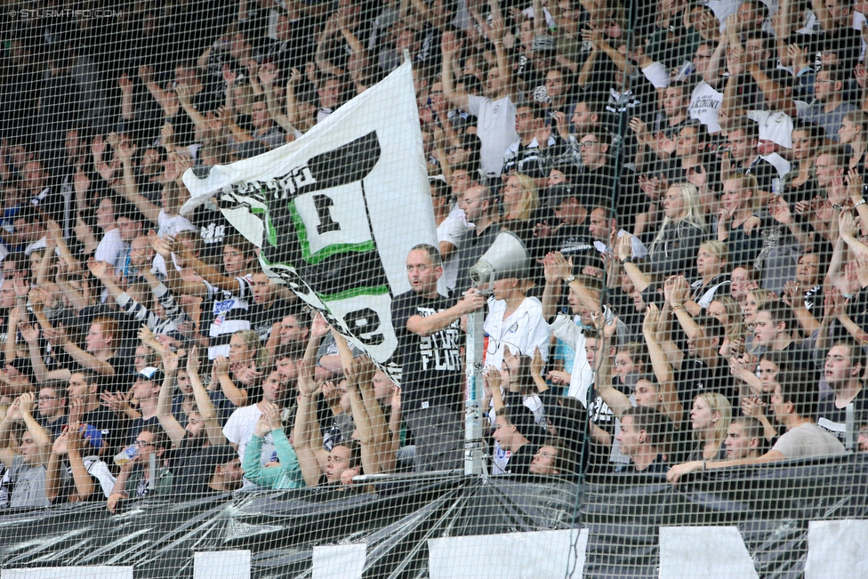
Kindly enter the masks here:
<path id="1" fill-rule="evenodd" d="M 526 297 L 509 318 L 503 319 L 505 312 L 505 301 L 488 298 L 488 315 L 483 326 L 488 334 L 486 367 L 500 369 L 506 347 L 516 356 L 521 354 L 532 358 L 534 350 L 539 348 L 542 359 L 548 359 L 551 328 L 542 318 L 542 302 Z"/>

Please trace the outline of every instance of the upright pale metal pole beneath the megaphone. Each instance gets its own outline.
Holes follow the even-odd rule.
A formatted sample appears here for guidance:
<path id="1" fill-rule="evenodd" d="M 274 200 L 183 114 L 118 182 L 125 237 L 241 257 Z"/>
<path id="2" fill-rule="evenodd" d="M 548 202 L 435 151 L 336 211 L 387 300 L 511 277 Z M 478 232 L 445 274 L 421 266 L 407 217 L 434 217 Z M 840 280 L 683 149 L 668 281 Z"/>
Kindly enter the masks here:
<path id="1" fill-rule="evenodd" d="M 467 340 L 464 352 L 466 394 L 464 402 L 464 474 L 486 472 L 485 443 L 482 440 L 482 350 L 485 347 L 485 316 L 482 310 L 467 315 Z"/>

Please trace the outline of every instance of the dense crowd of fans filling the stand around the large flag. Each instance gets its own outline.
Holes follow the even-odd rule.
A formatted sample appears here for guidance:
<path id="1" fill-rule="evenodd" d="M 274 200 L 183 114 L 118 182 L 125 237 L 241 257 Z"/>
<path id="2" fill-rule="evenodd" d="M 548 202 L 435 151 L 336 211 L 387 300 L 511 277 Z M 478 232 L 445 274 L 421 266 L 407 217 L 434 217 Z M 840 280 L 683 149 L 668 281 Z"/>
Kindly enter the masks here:
<path id="1" fill-rule="evenodd" d="M 0 507 L 460 468 L 478 310 L 494 474 L 868 451 L 868 5 L 53 6 L 2 28 Z M 180 208 L 405 54 L 438 246 L 398 386 Z M 504 231 L 531 265 L 471 287 Z"/>

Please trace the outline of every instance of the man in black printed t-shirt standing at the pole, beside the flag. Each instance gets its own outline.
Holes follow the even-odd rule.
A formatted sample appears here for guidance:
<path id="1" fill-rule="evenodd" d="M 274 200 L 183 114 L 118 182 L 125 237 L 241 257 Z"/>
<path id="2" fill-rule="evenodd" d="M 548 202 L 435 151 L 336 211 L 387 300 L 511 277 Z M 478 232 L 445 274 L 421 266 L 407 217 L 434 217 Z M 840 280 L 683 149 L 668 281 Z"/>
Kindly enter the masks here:
<path id="1" fill-rule="evenodd" d="M 451 470 L 462 456 L 461 318 L 486 301 L 475 288 L 458 303 L 437 293 L 443 266 L 433 245 L 415 245 L 406 266 L 412 289 L 395 298 L 391 313 L 402 365 L 401 406 L 416 444 L 415 470 Z"/>

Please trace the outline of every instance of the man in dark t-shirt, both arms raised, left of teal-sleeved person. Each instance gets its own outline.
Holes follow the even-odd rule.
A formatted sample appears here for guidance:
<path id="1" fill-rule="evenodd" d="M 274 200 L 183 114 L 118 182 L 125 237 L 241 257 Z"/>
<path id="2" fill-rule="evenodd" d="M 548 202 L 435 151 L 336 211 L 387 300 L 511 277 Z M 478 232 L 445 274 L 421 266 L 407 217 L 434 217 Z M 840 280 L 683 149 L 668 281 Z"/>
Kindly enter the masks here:
<path id="1" fill-rule="evenodd" d="M 166 374 L 174 374 L 178 368 L 177 355 L 164 355 Z M 220 429 L 217 412 L 208 391 L 199 380 L 199 356 L 197 349 L 187 358 L 187 374 L 196 398 L 196 410 L 189 413 L 187 427 L 172 414 L 172 390 L 163 383 L 157 401 L 157 416 L 160 425 L 177 447 L 170 462 L 173 472 L 172 495 L 197 496 L 214 492 L 235 490 L 241 487 L 244 472 L 240 468 L 237 453 L 227 445 Z"/>

